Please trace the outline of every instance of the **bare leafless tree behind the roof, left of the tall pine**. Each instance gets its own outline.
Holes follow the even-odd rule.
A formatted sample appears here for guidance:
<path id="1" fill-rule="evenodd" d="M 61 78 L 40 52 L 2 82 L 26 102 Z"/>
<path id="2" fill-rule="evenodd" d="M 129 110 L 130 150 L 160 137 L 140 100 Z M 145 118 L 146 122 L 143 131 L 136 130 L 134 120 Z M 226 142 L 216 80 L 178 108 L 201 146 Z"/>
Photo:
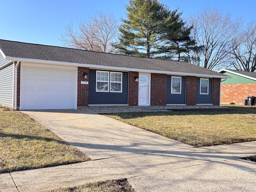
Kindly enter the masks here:
<path id="1" fill-rule="evenodd" d="M 61 41 L 66 47 L 98 52 L 113 53 L 114 43 L 118 34 L 118 21 L 113 14 L 98 14 L 89 21 L 78 22 L 74 29 L 73 23 L 65 27 L 66 34 Z"/>

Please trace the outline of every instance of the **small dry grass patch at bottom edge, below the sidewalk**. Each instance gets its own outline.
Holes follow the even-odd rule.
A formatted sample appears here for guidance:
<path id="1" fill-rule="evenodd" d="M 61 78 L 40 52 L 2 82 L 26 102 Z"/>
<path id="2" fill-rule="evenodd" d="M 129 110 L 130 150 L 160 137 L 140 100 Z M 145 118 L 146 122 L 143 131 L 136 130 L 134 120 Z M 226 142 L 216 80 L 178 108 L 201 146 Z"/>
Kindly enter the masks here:
<path id="1" fill-rule="evenodd" d="M 109 180 L 104 182 L 88 183 L 82 186 L 67 187 L 49 192 L 135 192 L 127 179 Z"/>

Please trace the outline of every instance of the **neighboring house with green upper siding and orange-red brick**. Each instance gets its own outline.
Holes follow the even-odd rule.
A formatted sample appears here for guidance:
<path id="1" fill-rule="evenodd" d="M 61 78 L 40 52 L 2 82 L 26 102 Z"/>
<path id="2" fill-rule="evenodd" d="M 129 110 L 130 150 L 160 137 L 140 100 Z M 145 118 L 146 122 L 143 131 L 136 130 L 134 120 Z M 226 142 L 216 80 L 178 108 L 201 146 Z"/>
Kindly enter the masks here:
<path id="1" fill-rule="evenodd" d="M 256 72 L 227 69 L 218 72 L 232 77 L 221 82 L 222 103 L 242 104 L 243 99 L 247 99 L 248 96 L 256 96 Z"/>

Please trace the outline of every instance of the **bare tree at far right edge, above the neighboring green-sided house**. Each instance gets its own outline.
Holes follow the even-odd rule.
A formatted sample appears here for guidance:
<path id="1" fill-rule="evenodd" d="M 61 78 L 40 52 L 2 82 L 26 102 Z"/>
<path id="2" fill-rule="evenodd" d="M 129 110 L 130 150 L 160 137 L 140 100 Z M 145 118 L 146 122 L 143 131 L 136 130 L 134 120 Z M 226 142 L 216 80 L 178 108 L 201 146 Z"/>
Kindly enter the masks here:
<path id="1" fill-rule="evenodd" d="M 242 71 L 256 71 L 256 23 L 240 26 L 239 33 L 232 38 L 230 57 L 232 67 Z"/>

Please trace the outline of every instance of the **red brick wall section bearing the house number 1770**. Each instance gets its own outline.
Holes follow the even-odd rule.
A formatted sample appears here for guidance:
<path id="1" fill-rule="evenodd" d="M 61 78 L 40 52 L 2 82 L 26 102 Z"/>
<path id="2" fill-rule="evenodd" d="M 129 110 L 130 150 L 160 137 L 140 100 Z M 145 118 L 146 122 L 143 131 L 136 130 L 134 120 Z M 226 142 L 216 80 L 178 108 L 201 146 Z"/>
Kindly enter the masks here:
<path id="1" fill-rule="evenodd" d="M 84 72 L 88 74 L 87 80 L 84 79 Z M 78 108 L 88 106 L 89 85 L 81 84 L 81 81 L 89 81 L 89 78 L 90 78 L 89 68 L 78 67 L 78 74 L 77 74 L 77 106 Z"/>

